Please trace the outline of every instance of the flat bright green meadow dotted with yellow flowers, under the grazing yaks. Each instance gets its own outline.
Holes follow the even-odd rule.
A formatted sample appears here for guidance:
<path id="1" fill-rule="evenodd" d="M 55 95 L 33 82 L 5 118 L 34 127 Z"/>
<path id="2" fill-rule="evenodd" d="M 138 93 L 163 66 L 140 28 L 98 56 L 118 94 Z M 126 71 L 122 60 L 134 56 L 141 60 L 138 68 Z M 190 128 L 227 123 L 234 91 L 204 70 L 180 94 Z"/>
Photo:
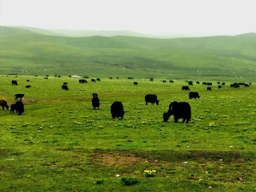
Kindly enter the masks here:
<path id="1" fill-rule="evenodd" d="M 10 105 L 25 93 L 21 116 L 0 111 L 0 191 L 256 191 L 255 82 L 233 89 L 230 83 L 249 82 L 113 78 L 79 84 L 64 76 L 0 76 L 0 99 Z M 227 85 L 218 89 L 218 79 Z M 185 80 L 200 81 L 190 87 L 200 99 L 181 91 Z M 69 91 L 61 90 L 63 82 Z M 91 106 L 94 92 L 99 110 Z M 146 105 L 146 94 L 157 94 L 159 105 Z M 126 113 L 113 121 L 117 100 Z M 172 101 L 191 105 L 191 122 L 162 122 Z M 144 170 L 157 172 L 145 177 Z M 139 182 L 125 186 L 122 176 Z"/>

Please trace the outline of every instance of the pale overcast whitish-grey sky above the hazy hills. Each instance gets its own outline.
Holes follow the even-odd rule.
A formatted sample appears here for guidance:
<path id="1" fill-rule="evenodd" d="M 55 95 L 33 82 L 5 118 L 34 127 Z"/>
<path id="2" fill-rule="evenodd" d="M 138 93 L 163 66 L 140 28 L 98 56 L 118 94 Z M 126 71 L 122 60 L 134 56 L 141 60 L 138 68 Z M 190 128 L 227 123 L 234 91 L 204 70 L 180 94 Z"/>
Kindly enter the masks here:
<path id="1" fill-rule="evenodd" d="M 0 25 L 144 34 L 256 32 L 256 0 L 0 0 Z"/>

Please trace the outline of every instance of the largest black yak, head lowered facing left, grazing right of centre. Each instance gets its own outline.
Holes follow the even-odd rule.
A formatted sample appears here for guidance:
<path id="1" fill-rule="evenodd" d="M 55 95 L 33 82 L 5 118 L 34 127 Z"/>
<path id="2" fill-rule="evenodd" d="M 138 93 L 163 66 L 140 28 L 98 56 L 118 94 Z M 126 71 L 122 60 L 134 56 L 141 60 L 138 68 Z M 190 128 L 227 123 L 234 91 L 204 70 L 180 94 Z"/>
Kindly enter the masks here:
<path id="1" fill-rule="evenodd" d="M 163 122 L 167 122 L 171 115 L 174 116 L 174 123 L 178 123 L 179 118 L 183 118 L 182 123 L 184 123 L 185 120 L 187 120 L 188 123 L 188 121 L 191 120 L 190 105 L 187 102 L 174 101 L 170 103 L 168 112 L 163 113 Z"/>

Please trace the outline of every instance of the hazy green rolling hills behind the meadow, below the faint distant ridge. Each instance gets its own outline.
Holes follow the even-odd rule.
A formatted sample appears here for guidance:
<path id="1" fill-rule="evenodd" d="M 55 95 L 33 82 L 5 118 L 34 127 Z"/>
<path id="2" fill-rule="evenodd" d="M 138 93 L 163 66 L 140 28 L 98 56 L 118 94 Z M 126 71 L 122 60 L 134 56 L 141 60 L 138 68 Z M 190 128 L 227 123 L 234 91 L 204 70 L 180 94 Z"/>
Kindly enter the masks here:
<path id="1" fill-rule="evenodd" d="M 156 39 L 0 31 L 1 74 L 255 77 L 256 34 Z"/>

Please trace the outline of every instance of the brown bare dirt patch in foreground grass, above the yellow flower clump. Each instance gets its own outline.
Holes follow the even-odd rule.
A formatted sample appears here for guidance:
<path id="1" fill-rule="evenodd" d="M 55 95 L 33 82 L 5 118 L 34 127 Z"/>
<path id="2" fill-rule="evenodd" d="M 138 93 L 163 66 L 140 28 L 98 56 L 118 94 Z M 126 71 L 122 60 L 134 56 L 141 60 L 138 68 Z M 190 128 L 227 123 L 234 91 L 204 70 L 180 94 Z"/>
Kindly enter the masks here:
<path id="1" fill-rule="evenodd" d="M 145 161 L 131 153 L 96 153 L 91 159 L 92 163 L 106 166 L 132 166 Z"/>

